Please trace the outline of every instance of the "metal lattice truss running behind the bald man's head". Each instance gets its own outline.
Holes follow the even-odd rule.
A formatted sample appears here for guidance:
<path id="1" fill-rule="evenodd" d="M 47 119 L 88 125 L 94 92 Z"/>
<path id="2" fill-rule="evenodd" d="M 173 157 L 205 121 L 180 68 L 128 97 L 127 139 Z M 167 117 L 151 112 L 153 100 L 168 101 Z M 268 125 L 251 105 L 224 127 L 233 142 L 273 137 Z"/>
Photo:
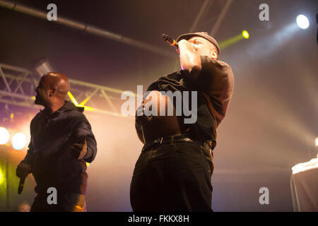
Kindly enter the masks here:
<path id="1" fill-rule="evenodd" d="M 0 102 L 8 105 L 37 108 L 34 104 L 35 87 L 39 76 L 17 66 L 0 63 Z M 69 99 L 86 111 L 126 117 L 121 114 L 120 100 L 124 90 L 69 79 Z M 134 97 L 137 95 L 134 93 Z"/>

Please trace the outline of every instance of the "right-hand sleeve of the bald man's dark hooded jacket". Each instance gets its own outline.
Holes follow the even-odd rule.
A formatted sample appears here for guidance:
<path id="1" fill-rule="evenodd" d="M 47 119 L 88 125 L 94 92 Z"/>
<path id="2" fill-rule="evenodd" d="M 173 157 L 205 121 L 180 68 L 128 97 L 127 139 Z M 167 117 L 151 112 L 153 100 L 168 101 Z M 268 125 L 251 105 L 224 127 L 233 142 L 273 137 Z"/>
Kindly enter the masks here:
<path id="1" fill-rule="evenodd" d="M 87 153 L 83 159 L 86 162 L 93 162 L 97 154 L 97 143 L 90 123 L 88 122 L 84 114 L 82 114 L 80 121 L 76 125 L 75 136 L 76 139 L 80 139 L 83 136 L 87 136 Z"/>

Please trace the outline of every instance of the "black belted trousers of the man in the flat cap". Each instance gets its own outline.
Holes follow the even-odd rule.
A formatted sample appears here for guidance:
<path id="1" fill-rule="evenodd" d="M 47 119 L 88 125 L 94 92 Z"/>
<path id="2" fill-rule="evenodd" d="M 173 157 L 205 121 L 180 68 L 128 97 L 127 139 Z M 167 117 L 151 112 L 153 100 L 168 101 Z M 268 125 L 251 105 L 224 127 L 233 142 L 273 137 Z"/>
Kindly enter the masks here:
<path id="1" fill-rule="evenodd" d="M 199 142 L 158 144 L 141 153 L 131 179 L 134 211 L 212 211 L 213 156 Z"/>

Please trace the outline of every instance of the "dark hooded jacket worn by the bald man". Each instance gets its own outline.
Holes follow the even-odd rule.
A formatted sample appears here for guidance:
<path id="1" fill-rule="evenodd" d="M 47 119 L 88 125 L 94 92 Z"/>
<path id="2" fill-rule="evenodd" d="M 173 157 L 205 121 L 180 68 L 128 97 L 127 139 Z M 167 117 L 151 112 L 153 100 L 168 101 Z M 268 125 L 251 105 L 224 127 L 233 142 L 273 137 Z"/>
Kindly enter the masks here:
<path id="1" fill-rule="evenodd" d="M 31 141 L 23 162 L 31 165 L 35 192 L 46 193 L 52 186 L 57 192 L 86 194 L 86 162 L 95 159 L 97 146 L 83 110 L 66 101 L 54 114 L 41 110 L 31 121 Z M 88 152 L 77 160 L 71 155 L 71 145 L 86 135 Z"/>

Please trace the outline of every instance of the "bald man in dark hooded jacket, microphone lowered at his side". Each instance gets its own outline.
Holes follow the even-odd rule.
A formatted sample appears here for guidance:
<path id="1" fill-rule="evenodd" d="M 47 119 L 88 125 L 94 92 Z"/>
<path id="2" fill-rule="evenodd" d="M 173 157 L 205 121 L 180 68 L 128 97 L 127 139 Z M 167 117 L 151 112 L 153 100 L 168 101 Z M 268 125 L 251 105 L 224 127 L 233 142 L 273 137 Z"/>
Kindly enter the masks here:
<path id="1" fill-rule="evenodd" d="M 21 180 L 30 172 L 35 178 L 31 211 L 86 211 L 86 162 L 97 147 L 83 107 L 66 101 L 69 80 L 62 73 L 45 73 L 35 91 L 35 104 L 45 109 L 31 121 L 28 153 L 16 169 Z"/>

